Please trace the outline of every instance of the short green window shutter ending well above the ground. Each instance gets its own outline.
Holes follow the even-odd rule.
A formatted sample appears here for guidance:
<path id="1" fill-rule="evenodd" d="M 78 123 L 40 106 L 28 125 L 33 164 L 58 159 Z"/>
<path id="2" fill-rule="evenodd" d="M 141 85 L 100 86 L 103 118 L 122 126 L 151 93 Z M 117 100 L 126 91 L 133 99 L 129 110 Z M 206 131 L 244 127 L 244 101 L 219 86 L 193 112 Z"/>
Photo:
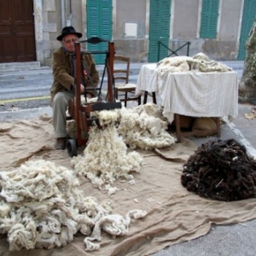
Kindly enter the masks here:
<path id="1" fill-rule="evenodd" d="M 201 7 L 200 38 L 216 38 L 218 3 L 218 0 L 203 0 Z"/>

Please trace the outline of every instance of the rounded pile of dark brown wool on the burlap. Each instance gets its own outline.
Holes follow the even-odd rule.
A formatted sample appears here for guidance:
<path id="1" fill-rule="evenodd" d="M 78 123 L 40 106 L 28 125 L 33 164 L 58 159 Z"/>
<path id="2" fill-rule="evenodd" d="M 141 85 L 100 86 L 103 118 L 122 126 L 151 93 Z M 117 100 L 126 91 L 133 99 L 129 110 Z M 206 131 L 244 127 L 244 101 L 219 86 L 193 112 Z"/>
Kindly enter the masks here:
<path id="1" fill-rule="evenodd" d="M 218 201 L 256 197 L 256 161 L 234 139 L 201 144 L 183 165 L 189 191 Z"/>

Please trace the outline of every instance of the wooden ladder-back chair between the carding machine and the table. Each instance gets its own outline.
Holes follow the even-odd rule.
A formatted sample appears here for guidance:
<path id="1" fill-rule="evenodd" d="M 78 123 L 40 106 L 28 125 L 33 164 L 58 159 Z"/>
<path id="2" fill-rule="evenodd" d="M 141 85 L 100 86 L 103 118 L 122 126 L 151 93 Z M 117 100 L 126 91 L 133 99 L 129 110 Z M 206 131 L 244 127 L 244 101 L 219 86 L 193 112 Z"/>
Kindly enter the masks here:
<path id="1" fill-rule="evenodd" d="M 119 64 L 119 65 L 117 65 Z M 137 101 L 138 105 L 141 104 L 141 94 L 135 95 L 137 84 L 129 83 L 130 75 L 130 58 L 120 55 L 115 55 L 113 58 L 113 79 L 115 84 L 114 95 L 120 102 L 125 102 L 125 107 L 129 101 Z M 120 92 L 123 93 L 124 97 Z M 129 93 L 129 95 L 128 95 Z M 131 95 L 131 96 L 130 96 Z"/>

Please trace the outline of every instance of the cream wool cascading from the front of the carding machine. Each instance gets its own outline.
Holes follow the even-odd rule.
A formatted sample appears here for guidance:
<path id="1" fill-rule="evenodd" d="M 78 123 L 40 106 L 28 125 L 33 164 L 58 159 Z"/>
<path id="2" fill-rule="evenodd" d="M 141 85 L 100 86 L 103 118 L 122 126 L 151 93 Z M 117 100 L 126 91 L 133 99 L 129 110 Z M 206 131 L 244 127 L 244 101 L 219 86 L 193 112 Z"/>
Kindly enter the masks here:
<path id="1" fill-rule="evenodd" d="M 84 154 L 71 160 L 75 172 L 87 177 L 98 189 L 102 189 L 103 184 L 113 184 L 119 177 L 132 180 L 131 172 L 140 172 L 143 165 L 140 154 L 135 151 L 127 152 L 123 138 L 119 136 L 115 126 L 118 117 L 118 112 L 99 112 L 102 129 L 91 126 Z M 108 190 L 108 195 L 116 191 L 110 186 L 104 189 Z"/>

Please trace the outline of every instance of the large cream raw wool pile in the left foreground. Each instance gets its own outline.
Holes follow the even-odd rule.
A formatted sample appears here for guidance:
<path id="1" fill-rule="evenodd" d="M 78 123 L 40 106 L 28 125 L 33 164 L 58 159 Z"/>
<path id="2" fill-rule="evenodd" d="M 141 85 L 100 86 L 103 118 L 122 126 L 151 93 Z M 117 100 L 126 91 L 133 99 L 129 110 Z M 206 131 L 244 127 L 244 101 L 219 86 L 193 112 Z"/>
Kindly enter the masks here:
<path id="1" fill-rule="evenodd" d="M 125 217 L 111 214 L 110 203 L 84 197 L 73 171 L 46 160 L 28 161 L 12 172 L 0 172 L 0 232 L 8 235 L 9 249 L 66 246 L 81 232 L 85 250 L 100 247 L 104 230 L 124 236 L 131 218 L 147 212 L 131 210 Z"/>

